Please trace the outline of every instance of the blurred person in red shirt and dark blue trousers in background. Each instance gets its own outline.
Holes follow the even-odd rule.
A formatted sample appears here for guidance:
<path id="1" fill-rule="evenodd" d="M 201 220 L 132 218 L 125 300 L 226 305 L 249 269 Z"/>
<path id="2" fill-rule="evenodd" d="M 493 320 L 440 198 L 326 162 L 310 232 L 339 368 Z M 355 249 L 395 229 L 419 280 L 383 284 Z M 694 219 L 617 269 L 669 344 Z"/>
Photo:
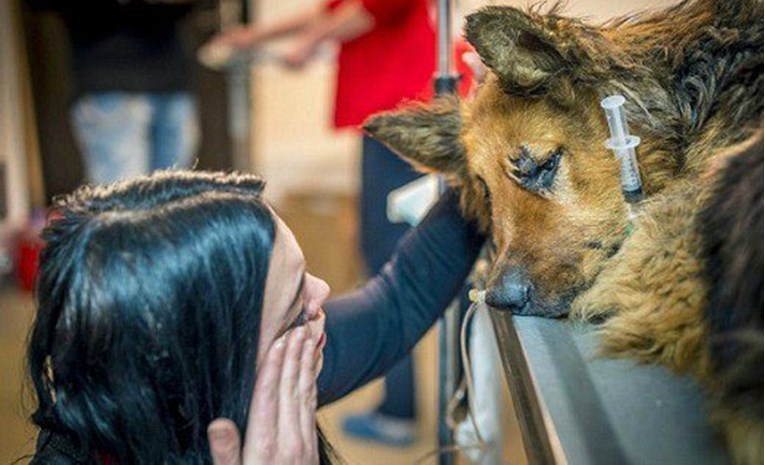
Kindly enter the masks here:
<path id="1" fill-rule="evenodd" d="M 357 129 L 370 115 L 432 94 L 436 60 L 433 5 L 429 0 L 330 0 L 280 22 L 225 31 L 211 42 L 239 50 L 290 36 L 282 56 L 301 68 L 327 41 L 340 43 L 334 107 L 335 128 Z M 361 250 L 376 275 L 409 229 L 386 214 L 387 196 L 419 175 L 380 142 L 362 135 Z M 376 411 L 346 419 L 347 433 L 392 445 L 416 436 L 411 356 L 385 378 L 386 396 Z"/>

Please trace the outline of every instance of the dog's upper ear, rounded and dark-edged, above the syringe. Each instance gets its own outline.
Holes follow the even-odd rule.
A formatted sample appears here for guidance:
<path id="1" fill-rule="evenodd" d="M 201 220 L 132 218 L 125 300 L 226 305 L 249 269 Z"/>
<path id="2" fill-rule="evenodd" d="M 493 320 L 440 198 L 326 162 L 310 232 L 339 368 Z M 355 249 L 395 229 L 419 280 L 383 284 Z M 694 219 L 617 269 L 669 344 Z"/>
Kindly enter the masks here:
<path id="1" fill-rule="evenodd" d="M 467 17 L 465 37 L 506 93 L 541 95 L 561 85 L 561 78 L 583 71 L 571 50 L 576 42 L 569 28 L 584 25 L 557 16 L 557 9 L 541 15 L 488 6 Z"/>

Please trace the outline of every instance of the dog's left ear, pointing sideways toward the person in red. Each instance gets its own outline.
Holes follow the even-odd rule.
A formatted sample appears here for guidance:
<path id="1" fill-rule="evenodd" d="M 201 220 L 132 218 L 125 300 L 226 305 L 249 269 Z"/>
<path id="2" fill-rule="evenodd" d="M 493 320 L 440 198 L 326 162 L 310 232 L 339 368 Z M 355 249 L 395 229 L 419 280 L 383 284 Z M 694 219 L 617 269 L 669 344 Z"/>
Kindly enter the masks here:
<path id="1" fill-rule="evenodd" d="M 462 122 L 456 97 L 432 103 L 412 102 L 394 111 L 378 113 L 364 123 L 375 139 L 424 172 L 436 172 L 458 181 L 467 173 L 465 149 L 460 143 Z"/>

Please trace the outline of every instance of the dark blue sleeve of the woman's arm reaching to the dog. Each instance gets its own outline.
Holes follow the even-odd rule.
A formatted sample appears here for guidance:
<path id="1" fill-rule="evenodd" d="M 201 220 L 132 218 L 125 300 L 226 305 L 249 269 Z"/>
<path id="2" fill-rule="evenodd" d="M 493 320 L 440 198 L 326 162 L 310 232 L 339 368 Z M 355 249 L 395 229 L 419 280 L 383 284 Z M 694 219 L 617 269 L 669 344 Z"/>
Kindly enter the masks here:
<path id="1" fill-rule="evenodd" d="M 320 405 L 385 374 L 460 291 L 484 238 L 462 218 L 457 202 L 456 192 L 447 191 L 379 275 L 327 302 Z"/>

